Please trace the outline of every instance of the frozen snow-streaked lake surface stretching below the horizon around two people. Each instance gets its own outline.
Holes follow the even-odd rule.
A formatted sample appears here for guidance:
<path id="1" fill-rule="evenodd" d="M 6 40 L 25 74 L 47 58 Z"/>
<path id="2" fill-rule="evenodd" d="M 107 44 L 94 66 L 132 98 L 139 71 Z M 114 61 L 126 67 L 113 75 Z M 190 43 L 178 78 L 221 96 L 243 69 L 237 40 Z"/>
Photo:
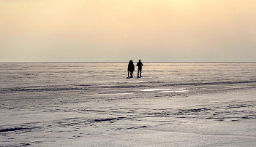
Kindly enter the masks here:
<path id="1" fill-rule="evenodd" d="M 256 146 L 256 63 L 127 65 L 0 63 L 0 146 Z"/>

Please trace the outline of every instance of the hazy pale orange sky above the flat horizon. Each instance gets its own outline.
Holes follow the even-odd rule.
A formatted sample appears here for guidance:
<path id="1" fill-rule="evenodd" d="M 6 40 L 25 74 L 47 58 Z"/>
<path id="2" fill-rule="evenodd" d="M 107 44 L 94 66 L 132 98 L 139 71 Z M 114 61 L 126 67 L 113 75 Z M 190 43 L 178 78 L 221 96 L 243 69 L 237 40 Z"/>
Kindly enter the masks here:
<path id="1" fill-rule="evenodd" d="M 0 62 L 256 62 L 255 0 L 0 0 Z"/>

